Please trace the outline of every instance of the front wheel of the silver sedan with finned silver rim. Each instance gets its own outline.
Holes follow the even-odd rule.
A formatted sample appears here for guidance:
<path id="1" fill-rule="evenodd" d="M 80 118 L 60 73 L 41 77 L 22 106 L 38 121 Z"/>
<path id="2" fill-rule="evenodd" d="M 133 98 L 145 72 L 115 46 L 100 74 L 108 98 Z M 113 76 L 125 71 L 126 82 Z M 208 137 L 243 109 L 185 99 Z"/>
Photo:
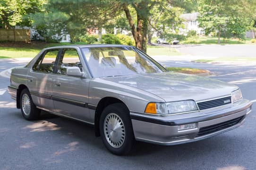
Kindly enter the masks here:
<path id="1" fill-rule="evenodd" d="M 112 129 L 114 127 L 116 128 Z M 124 104 L 114 103 L 102 111 L 100 134 L 103 144 L 111 153 L 126 155 L 131 151 L 135 139 L 129 110 Z"/>

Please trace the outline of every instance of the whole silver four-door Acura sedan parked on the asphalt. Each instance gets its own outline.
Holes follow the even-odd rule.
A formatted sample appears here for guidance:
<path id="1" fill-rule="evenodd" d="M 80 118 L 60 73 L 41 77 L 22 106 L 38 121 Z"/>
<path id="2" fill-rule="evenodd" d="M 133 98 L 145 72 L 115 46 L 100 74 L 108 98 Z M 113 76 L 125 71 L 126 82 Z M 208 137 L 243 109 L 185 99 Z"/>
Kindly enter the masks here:
<path id="1" fill-rule="evenodd" d="M 114 154 L 135 141 L 173 145 L 239 127 L 252 103 L 219 80 L 169 72 L 132 46 L 42 50 L 12 69 L 9 93 L 27 120 L 41 110 L 94 125 Z"/>

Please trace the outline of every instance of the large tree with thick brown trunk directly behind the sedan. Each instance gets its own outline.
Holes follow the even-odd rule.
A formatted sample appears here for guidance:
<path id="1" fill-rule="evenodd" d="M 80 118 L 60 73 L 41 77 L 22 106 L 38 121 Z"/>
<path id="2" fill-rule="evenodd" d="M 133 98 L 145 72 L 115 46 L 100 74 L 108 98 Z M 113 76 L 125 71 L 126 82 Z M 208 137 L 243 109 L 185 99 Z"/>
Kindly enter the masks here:
<path id="1" fill-rule="evenodd" d="M 48 25 L 58 24 L 58 22 L 65 23 L 68 33 L 79 33 L 80 28 L 97 27 L 99 38 L 102 27 L 106 26 L 109 30 L 112 29 L 113 19 L 117 18 L 117 26 L 125 28 L 128 23 L 136 47 L 146 51 L 148 19 L 154 15 L 160 15 L 152 13 L 154 6 L 164 4 L 162 10 L 169 10 L 173 7 L 185 8 L 191 1 L 195 0 L 48 0 L 47 10 L 41 15 L 46 18 L 46 21 L 43 22 Z M 120 14 L 125 14 L 127 22 L 124 21 L 124 16 L 118 17 Z M 53 18 L 47 17 L 49 15 Z"/>

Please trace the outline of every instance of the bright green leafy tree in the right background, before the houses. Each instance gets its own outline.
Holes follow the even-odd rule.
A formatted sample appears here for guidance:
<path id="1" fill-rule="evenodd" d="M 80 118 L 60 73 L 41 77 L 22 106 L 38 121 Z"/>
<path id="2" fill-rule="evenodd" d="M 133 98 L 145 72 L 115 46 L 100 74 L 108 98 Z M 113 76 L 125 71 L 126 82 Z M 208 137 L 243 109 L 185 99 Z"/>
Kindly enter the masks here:
<path id="1" fill-rule="evenodd" d="M 218 43 L 221 37 L 243 39 L 250 25 L 245 12 L 245 1 L 247 0 L 198 0 L 199 26 L 205 29 L 205 34 L 216 31 Z"/>

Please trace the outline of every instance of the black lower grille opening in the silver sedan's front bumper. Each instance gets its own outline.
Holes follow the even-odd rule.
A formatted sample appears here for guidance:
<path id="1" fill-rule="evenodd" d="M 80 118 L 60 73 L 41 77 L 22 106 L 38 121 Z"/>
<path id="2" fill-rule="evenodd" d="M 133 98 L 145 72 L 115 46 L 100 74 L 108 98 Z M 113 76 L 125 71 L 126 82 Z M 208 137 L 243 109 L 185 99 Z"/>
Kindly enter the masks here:
<path id="1" fill-rule="evenodd" d="M 241 116 L 239 118 L 232 119 L 232 120 L 229 120 L 229 121 L 225 121 L 225 122 L 222 122 L 222 123 L 218 123 L 218 124 L 215 124 L 215 125 L 212 125 L 212 126 L 202 127 L 202 128 L 199 129 L 199 132 L 196 135 L 196 137 L 204 136 L 204 135 L 211 134 L 213 132 L 217 132 L 217 131 L 220 131 L 222 129 L 228 128 L 228 127 L 232 127 L 232 126 L 238 124 L 243 118 L 244 118 L 244 116 Z"/>

